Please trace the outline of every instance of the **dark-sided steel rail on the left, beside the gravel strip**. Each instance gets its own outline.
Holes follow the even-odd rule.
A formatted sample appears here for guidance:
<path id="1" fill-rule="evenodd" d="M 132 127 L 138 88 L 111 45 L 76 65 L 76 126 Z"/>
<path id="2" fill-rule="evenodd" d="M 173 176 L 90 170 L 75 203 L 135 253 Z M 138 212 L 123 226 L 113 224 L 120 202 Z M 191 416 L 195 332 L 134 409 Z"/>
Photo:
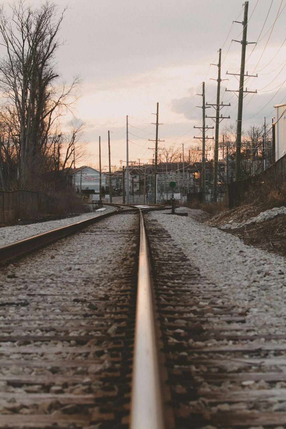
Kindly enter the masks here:
<path id="1" fill-rule="evenodd" d="M 99 216 L 94 216 L 85 221 L 76 222 L 65 227 L 56 228 L 55 230 L 47 231 L 45 233 L 37 234 L 36 236 L 29 237 L 27 239 L 19 240 L 8 245 L 0 246 L 0 265 L 6 263 L 9 260 L 13 260 L 24 254 L 31 253 L 41 247 L 56 242 L 57 240 L 63 239 L 69 235 L 75 234 L 85 227 L 88 227 L 101 219 L 108 218 L 109 216 L 115 215 L 122 211 L 121 208 L 118 210 L 104 213 Z"/>

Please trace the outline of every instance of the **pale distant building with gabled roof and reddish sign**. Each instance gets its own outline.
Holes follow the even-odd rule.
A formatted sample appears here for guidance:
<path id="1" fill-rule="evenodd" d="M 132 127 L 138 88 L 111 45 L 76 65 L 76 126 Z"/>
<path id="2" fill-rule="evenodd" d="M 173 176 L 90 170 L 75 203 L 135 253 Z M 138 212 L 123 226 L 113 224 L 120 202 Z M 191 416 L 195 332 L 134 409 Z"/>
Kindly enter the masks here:
<path id="1" fill-rule="evenodd" d="M 71 170 L 72 184 L 79 193 L 99 193 L 99 171 L 88 166 Z M 101 187 L 105 190 L 105 174 L 101 173 Z M 89 191 L 89 192 L 87 192 Z"/>

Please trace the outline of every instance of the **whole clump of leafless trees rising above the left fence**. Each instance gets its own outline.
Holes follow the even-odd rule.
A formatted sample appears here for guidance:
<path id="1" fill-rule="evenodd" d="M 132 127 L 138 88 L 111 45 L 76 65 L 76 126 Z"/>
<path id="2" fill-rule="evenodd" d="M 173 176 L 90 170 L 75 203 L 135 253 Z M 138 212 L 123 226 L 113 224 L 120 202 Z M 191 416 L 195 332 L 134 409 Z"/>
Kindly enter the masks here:
<path id="1" fill-rule="evenodd" d="M 71 165 L 75 141 L 84 124 L 73 124 L 63 134 L 60 120 L 76 100 L 79 79 L 59 83 L 55 52 L 63 12 L 50 0 L 32 9 L 25 1 L 0 6 L 0 91 L 5 103 L 0 111 L 0 163 L 4 181 L 34 185 L 47 171 Z M 5 167 L 5 168 L 4 168 Z M 4 174 L 5 170 L 5 174 Z"/>

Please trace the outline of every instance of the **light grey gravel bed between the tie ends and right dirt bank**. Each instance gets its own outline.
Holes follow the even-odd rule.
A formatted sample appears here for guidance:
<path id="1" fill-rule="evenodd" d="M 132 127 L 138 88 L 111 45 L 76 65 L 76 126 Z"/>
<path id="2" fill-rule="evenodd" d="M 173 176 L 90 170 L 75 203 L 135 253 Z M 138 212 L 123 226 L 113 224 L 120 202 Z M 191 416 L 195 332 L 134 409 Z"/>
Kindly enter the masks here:
<path id="1" fill-rule="evenodd" d="M 286 260 L 244 243 L 236 236 L 197 222 L 193 210 L 181 207 L 149 212 L 149 219 L 168 230 L 202 275 L 221 286 L 221 302 L 231 299 L 247 312 L 247 323 L 260 333 L 286 333 Z M 173 267 L 175 271 L 175 267 Z"/>

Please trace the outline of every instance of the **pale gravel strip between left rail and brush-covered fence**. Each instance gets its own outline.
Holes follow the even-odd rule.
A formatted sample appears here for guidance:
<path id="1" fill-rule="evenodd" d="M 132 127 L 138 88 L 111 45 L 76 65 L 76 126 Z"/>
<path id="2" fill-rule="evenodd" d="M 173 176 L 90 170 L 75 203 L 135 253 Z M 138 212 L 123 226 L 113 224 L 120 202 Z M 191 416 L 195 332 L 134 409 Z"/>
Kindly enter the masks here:
<path id="1" fill-rule="evenodd" d="M 85 221 L 86 219 L 116 210 L 116 207 L 110 207 L 108 205 L 94 211 L 92 211 L 92 205 L 89 205 L 89 208 L 91 211 L 84 213 L 83 215 L 74 216 L 72 218 L 0 228 L 0 246 L 13 243 L 18 240 L 27 239 L 28 237 L 36 236 L 37 234 L 45 233 L 56 228 L 65 227 L 66 225 L 74 224 L 75 222 Z"/>

